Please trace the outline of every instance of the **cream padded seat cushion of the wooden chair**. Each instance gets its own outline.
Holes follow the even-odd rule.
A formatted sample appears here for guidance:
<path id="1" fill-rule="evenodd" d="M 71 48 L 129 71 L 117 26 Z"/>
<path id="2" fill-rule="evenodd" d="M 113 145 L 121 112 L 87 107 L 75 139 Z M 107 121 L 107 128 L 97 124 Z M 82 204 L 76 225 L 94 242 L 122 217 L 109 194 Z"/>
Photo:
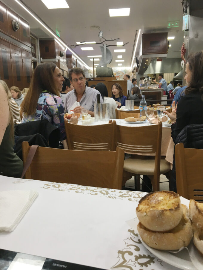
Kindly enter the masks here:
<path id="1" fill-rule="evenodd" d="M 132 156 L 124 161 L 123 170 L 140 175 L 154 175 L 154 156 Z M 170 171 L 170 163 L 161 158 L 160 174 Z"/>

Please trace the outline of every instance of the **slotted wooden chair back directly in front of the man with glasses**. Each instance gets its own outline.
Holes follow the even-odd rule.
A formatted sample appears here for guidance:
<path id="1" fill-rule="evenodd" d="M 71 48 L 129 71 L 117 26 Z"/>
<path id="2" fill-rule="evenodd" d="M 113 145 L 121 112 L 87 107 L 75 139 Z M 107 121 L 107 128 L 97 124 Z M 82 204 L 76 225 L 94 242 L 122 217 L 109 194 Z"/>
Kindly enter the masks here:
<path id="1" fill-rule="evenodd" d="M 115 151 L 116 121 L 105 125 L 74 125 L 65 121 L 70 150 Z"/>

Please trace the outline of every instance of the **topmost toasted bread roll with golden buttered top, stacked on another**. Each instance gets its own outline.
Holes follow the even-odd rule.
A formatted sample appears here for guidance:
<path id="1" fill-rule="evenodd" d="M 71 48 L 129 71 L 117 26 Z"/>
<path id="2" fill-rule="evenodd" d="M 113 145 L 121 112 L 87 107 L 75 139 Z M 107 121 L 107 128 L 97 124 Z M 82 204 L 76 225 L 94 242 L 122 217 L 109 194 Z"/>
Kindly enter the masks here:
<path id="1" fill-rule="evenodd" d="M 183 209 L 178 194 L 157 191 L 148 193 L 139 201 L 136 214 L 147 229 L 166 232 L 179 224 Z"/>

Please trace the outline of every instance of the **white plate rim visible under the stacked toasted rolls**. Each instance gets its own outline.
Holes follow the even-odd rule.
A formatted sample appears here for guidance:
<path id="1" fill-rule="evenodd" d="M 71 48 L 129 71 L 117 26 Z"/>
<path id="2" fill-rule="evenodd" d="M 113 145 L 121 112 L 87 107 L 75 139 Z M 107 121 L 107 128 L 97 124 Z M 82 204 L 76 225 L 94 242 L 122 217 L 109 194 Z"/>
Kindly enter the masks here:
<path id="1" fill-rule="evenodd" d="M 155 255 L 162 261 L 172 266 L 176 266 L 180 269 L 185 269 L 185 270 L 196 269 L 196 267 L 193 265 L 193 263 L 190 260 L 190 256 L 187 249 L 183 249 L 182 251 L 178 253 L 170 253 L 168 251 L 153 249 L 149 247 L 146 243 L 144 243 L 140 235 L 139 235 L 139 239 L 141 240 L 142 244 L 146 247 L 146 249 L 148 249 L 153 255 Z"/>

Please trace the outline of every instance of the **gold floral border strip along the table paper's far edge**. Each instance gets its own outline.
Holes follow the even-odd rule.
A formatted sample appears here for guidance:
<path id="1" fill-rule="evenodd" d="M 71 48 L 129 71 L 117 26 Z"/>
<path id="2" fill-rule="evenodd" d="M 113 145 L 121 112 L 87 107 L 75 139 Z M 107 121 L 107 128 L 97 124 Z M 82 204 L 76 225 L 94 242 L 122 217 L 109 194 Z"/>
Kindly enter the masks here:
<path id="1" fill-rule="evenodd" d="M 42 187 L 44 189 L 51 189 L 57 191 L 74 191 L 75 193 L 83 193 L 88 195 L 99 195 L 112 199 L 124 199 L 127 198 L 129 201 L 139 201 L 144 195 L 145 192 L 129 191 L 129 190 L 116 190 L 109 188 L 100 188 L 100 187 L 89 187 L 81 186 L 76 184 L 64 184 L 64 183 L 48 183 L 44 184 Z"/>

